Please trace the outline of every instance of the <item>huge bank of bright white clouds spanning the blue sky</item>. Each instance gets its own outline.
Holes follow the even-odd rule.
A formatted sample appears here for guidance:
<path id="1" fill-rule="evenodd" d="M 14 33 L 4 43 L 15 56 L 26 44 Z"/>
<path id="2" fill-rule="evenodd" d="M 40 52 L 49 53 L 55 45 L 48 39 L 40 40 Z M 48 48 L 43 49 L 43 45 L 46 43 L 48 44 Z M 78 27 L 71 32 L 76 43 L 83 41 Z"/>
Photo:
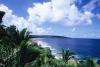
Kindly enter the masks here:
<path id="1" fill-rule="evenodd" d="M 4 24 L 16 25 L 19 30 L 28 28 L 33 34 L 54 34 L 52 28 L 43 28 L 43 24 L 51 22 L 64 26 L 77 26 L 92 24 L 91 11 L 80 12 L 75 5 L 76 0 L 51 0 L 44 3 L 33 3 L 27 9 L 28 18 L 19 17 L 7 6 L 1 4 L 0 10 L 5 11 Z"/>

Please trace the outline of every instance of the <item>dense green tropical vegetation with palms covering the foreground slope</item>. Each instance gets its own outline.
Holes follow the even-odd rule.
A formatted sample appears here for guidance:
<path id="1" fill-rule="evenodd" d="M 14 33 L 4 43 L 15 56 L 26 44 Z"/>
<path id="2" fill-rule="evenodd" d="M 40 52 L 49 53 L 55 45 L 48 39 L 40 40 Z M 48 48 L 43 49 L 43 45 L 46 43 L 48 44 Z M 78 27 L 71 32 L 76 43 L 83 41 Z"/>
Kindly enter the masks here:
<path id="1" fill-rule="evenodd" d="M 57 59 L 52 51 L 43 48 L 30 38 L 27 29 L 2 24 L 4 12 L 0 12 L 0 67 L 100 67 L 98 59 L 76 58 L 69 49 L 62 49 Z"/>

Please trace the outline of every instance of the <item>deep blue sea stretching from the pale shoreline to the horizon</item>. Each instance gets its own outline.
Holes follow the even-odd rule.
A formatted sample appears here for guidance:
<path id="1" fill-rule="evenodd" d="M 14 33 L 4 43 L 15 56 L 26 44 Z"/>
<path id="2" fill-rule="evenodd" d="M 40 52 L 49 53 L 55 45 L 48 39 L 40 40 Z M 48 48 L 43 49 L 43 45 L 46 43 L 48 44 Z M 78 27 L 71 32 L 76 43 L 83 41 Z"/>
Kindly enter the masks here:
<path id="1" fill-rule="evenodd" d="M 52 48 L 60 52 L 62 49 L 70 49 L 78 56 L 90 56 L 100 58 L 100 39 L 86 38 L 36 38 L 46 42 Z"/>

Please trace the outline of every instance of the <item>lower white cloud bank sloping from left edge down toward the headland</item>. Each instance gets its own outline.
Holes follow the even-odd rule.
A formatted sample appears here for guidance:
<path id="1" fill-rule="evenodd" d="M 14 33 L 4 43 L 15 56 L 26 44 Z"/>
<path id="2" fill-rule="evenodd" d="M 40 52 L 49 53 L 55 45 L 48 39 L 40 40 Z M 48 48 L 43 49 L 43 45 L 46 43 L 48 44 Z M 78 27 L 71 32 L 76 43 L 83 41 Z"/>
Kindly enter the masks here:
<path id="1" fill-rule="evenodd" d="M 29 19 L 25 19 L 24 17 L 19 17 L 13 14 L 13 11 L 10 10 L 7 6 L 0 4 L 0 11 L 5 11 L 6 15 L 3 18 L 3 24 L 6 26 L 15 25 L 19 30 L 23 28 L 27 28 L 32 34 L 50 34 L 51 29 L 44 29 L 42 26 L 38 26 Z"/>

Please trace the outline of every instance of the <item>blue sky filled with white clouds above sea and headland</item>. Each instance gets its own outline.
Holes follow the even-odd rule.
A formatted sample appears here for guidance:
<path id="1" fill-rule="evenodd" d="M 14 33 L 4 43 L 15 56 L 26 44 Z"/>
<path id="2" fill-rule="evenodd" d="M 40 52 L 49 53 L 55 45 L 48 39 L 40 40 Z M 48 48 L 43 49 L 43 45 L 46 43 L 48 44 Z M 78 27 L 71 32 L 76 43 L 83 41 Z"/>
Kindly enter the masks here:
<path id="1" fill-rule="evenodd" d="M 0 0 L 3 24 L 36 35 L 100 38 L 100 0 Z"/>

